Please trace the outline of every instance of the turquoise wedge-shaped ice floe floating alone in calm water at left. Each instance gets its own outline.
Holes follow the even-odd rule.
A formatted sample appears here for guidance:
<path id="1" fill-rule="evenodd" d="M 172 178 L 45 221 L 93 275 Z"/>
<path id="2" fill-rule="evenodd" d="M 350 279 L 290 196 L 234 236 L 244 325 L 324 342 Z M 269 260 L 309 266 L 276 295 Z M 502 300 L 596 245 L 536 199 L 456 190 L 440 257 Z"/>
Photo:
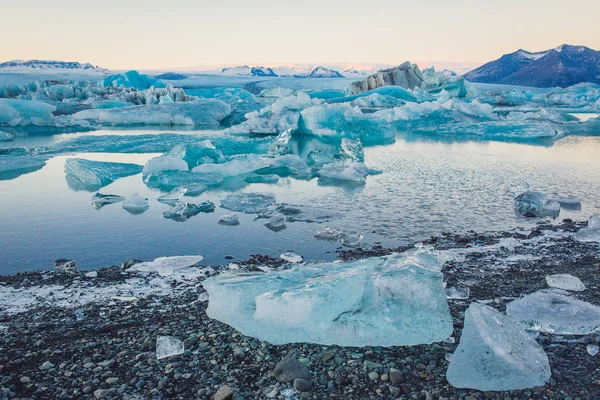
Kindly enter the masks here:
<path id="1" fill-rule="evenodd" d="M 95 191 L 119 178 L 136 175 L 142 171 L 137 164 L 105 161 L 90 161 L 69 158 L 65 161 L 65 172 L 69 187 L 74 190 Z"/>

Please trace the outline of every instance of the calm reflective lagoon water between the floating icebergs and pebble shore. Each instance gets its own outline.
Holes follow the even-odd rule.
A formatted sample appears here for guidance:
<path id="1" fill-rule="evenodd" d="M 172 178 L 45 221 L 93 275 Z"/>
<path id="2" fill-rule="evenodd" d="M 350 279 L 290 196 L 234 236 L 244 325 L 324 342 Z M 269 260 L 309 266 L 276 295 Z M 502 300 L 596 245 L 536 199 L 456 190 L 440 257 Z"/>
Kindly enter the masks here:
<path id="1" fill-rule="evenodd" d="M 60 137 L 23 140 L 35 145 Z M 523 181 L 536 190 L 582 200 L 581 211 L 563 210 L 558 220 L 585 220 L 600 212 L 600 138 L 568 137 L 536 146 L 399 137 L 395 144 L 366 148 L 365 154 L 365 163 L 383 174 L 370 176 L 364 186 L 321 186 L 316 179 L 285 178 L 275 185 L 242 189 L 274 193 L 278 202 L 345 213 L 328 224 L 288 223 L 280 232 L 265 228 L 265 220 L 254 221 L 244 214 L 240 214 L 239 226 L 221 226 L 219 217 L 231 212 L 220 207 L 183 223 L 165 219 L 162 213 L 169 206 L 156 201 L 161 193 L 146 187 L 141 175 L 117 180 L 101 192 L 125 197 L 137 192 L 149 198 L 147 212 L 131 215 L 120 204 L 96 210 L 91 206 L 93 193 L 67 186 L 64 162 L 74 155 L 59 155 L 38 171 L 0 181 L 0 273 L 51 269 L 57 258 L 75 259 L 84 269 L 120 264 L 129 258 L 191 254 L 203 255 L 210 264 L 222 264 L 228 254 L 236 258 L 257 253 L 278 256 L 287 250 L 306 259 L 328 260 L 335 257 L 338 245 L 314 238 L 325 226 L 358 230 L 366 235 L 366 243 L 385 245 L 448 231 L 526 227 L 531 222 L 517 216 L 513 207 Z M 76 154 L 142 165 L 155 155 Z M 192 202 L 211 200 L 218 206 L 230 193 L 213 191 Z"/>

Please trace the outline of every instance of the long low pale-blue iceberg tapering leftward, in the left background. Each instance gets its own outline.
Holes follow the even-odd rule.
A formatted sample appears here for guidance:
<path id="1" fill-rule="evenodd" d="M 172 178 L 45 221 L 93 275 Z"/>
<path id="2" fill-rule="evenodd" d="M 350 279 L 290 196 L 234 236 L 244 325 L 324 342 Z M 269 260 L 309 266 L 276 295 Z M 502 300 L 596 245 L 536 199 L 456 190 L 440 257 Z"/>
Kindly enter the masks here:
<path id="1" fill-rule="evenodd" d="M 230 113 L 231 108 L 227 103 L 200 99 L 106 110 L 84 110 L 74 114 L 73 119 L 107 126 L 184 125 L 216 128 Z"/>

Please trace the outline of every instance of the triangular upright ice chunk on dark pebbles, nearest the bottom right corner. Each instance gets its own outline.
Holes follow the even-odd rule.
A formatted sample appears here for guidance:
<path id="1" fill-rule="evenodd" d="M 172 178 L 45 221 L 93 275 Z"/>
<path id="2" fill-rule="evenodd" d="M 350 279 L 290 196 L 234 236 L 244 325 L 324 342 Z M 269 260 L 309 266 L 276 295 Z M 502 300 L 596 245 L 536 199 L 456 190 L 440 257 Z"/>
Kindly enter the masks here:
<path id="1" fill-rule="evenodd" d="M 516 321 L 472 303 L 446 378 L 457 388 L 518 390 L 544 386 L 550 366 L 544 349 Z"/>

